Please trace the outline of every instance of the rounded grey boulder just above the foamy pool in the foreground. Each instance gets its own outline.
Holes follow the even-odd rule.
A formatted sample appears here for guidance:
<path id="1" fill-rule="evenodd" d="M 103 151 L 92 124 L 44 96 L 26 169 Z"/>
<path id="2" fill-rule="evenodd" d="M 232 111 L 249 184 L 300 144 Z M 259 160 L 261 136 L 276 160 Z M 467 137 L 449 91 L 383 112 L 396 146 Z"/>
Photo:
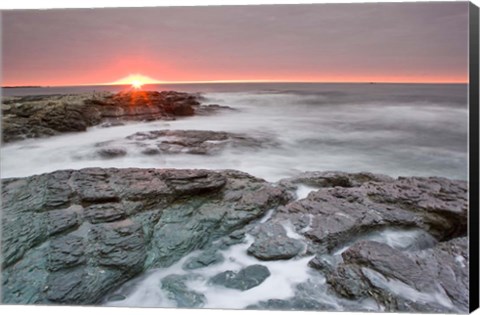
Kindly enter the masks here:
<path id="1" fill-rule="evenodd" d="M 290 259 L 303 251 L 301 241 L 287 237 L 280 224 L 264 223 L 252 234 L 255 241 L 247 252 L 260 260 Z"/>

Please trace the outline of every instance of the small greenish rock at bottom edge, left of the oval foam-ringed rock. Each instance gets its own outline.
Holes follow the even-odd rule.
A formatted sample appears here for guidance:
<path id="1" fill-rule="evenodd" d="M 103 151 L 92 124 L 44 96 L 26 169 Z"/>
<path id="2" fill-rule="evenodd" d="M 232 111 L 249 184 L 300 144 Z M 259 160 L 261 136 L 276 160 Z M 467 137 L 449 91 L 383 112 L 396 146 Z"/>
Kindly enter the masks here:
<path id="1" fill-rule="evenodd" d="M 168 297 L 177 303 L 177 307 L 193 308 L 205 304 L 206 298 L 203 294 L 189 290 L 185 281 L 194 280 L 189 275 L 169 275 L 162 279 L 162 289 L 167 291 Z"/>

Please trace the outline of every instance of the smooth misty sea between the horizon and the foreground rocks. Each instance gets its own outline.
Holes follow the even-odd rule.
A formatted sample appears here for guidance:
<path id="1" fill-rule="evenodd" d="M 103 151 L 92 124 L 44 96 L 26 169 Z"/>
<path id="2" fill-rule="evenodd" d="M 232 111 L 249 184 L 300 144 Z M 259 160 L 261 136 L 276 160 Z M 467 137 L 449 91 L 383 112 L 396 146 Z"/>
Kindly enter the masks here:
<path id="1" fill-rule="evenodd" d="M 151 88 L 203 89 L 205 104 L 226 105 L 237 111 L 92 127 L 85 133 L 7 144 L 1 149 L 2 177 L 84 167 L 154 167 L 237 169 L 268 181 L 323 170 L 467 178 L 466 85 L 212 84 Z M 52 94 L 85 89 L 27 90 L 30 94 Z M 22 89 L 6 91 L 7 95 L 26 93 Z M 278 145 L 261 150 L 227 148 L 209 156 L 148 156 L 124 140 L 136 132 L 160 129 L 236 132 L 267 137 Z M 127 155 L 99 157 L 95 145 L 104 141 L 120 143 Z"/>

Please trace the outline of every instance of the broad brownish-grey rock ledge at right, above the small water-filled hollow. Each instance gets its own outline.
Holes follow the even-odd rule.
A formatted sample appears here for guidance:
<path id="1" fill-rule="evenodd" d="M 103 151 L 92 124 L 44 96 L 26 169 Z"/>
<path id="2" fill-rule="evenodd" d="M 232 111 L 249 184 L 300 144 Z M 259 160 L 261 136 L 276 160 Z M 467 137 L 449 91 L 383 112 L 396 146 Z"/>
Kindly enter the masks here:
<path id="1" fill-rule="evenodd" d="M 399 178 L 321 188 L 279 208 L 275 218 L 290 220 L 309 241 L 309 251 L 320 254 L 388 227 L 417 228 L 437 240 L 448 240 L 467 232 L 466 183 L 435 177 Z"/>

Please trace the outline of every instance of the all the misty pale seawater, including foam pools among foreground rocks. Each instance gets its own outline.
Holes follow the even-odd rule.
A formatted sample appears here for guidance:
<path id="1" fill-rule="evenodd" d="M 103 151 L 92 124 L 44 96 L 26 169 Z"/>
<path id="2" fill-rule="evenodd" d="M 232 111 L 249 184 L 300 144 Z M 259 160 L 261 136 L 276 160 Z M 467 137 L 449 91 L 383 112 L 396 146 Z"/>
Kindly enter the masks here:
<path id="1" fill-rule="evenodd" d="M 4 92 L 6 95 L 36 95 L 94 90 L 115 92 L 126 88 L 15 88 Z M 1 147 L 2 177 L 85 167 L 236 169 L 270 182 L 304 171 L 367 171 L 393 177 L 454 179 L 467 179 L 468 176 L 467 85 L 275 83 L 158 85 L 144 89 L 201 93 L 204 104 L 230 106 L 235 110 L 175 121 L 132 122 L 109 128 L 96 126 L 87 132 L 5 144 Z M 215 155 L 145 155 L 126 140 L 136 132 L 163 129 L 228 131 L 269 139 L 276 145 L 257 150 L 227 147 Z M 99 143 L 122 146 L 127 154 L 102 158 L 96 153 Z M 312 190 L 311 187 L 298 187 L 297 198 L 305 198 Z M 274 210 L 254 224 L 267 222 Z M 289 238 L 305 240 L 289 221 L 282 224 Z M 421 229 L 394 226 L 354 235 L 354 238 L 355 241 L 385 243 L 400 250 L 426 239 L 433 240 L 429 246 L 436 242 Z M 195 250 L 169 267 L 151 269 L 129 280 L 107 294 L 101 305 L 176 307 L 161 283 L 167 275 L 177 274 L 191 277 L 185 285 L 203 295 L 205 304 L 202 307 L 205 308 L 243 309 L 269 299 L 288 300 L 303 294 L 306 301 L 314 300 L 328 310 L 385 311 L 371 298 L 350 301 L 333 294 L 324 274 L 308 266 L 313 255 L 262 261 L 271 276 L 250 290 L 238 291 L 209 284 L 207 279 L 220 272 L 238 271 L 258 264 L 257 259 L 247 254 L 252 243 L 253 237 L 247 234 L 243 243 L 218 251 L 225 258 L 222 262 L 194 271 L 185 270 L 183 264 L 202 253 L 200 249 Z M 322 257 L 338 261 L 349 245 Z M 373 270 L 370 276 L 376 279 L 376 285 L 380 283 L 408 300 L 456 310 L 440 286 L 438 291 L 420 292 Z M 300 284 L 312 289 L 300 291 Z"/>

